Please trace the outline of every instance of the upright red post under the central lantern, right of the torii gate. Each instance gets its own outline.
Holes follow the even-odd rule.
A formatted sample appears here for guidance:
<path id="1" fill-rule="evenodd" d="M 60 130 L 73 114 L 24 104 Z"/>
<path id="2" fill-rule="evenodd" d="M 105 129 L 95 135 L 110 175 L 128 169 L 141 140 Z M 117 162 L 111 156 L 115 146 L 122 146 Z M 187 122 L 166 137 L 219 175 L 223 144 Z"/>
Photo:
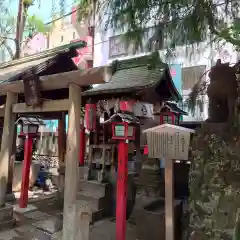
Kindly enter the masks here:
<path id="1" fill-rule="evenodd" d="M 127 178 L 128 143 L 120 140 L 118 148 L 116 240 L 126 239 Z"/>

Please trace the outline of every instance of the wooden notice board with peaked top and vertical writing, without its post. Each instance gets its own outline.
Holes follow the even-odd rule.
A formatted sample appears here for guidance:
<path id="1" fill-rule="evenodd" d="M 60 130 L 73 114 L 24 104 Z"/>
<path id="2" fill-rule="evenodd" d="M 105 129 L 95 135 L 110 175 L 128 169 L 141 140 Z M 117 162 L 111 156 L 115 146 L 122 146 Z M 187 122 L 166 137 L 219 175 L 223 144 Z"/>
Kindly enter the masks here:
<path id="1" fill-rule="evenodd" d="M 146 129 L 148 156 L 151 158 L 164 158 L 188 160 L 190 134 L 195 130 L 171 124 L 162 124 Z"/>

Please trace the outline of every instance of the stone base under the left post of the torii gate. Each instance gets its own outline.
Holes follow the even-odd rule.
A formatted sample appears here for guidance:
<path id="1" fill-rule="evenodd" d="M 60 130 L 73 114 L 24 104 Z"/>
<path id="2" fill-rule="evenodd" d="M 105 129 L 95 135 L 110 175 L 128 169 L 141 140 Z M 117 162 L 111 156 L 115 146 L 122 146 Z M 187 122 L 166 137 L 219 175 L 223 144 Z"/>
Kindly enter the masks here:
<path id="1" fill-rule="evenodd" d="M 14 223 L 13 206 L 5 204 L 5 206 L 0 207 L 0 231 L 12 228 Z"/>

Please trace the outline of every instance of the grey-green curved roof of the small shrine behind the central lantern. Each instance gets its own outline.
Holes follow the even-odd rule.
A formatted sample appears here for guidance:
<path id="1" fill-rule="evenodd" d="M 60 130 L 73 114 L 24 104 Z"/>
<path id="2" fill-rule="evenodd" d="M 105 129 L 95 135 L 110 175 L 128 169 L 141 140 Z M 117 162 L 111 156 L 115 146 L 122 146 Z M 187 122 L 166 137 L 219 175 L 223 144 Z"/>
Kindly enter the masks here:
<path id="1" fill-rule="evenodd" d="M 166 63 L 163 63 L 159 55 L 151 54 L 139 58 L 123 61 L 115 61 L 112 64 L 113 75 L 109 82 L 85 91 L 84 95 L 100 95 L 113 93 L 126 93 L 149 88 L 156 88 L 165 81 L 174 100 L 180 100 L 178 93 Z"/>

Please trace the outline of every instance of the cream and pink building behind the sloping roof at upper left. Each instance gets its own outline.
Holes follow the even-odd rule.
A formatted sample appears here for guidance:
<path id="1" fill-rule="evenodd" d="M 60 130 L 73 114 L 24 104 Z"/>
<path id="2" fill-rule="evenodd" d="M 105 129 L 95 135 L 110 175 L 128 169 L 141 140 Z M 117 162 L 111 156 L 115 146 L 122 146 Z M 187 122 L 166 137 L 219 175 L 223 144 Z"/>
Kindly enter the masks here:
<path id="1" fill-rule="evenodd" d="M 75 8 L 72 9 L 74 11 Z M 39 53 L 46 49 L 55 48 L 71 42 L 84 40 L 88 46 L 79 49 L 78 56 L 73 58 L 79 68 L 89 68 L 93 65 L 92 36 L 87 22 L 77 21 L 76 12 L 69 18 L 56 20 L 51 23 L 52 29 L 48 35 L 36 33 L 30 39 L 26 39 L 23 48 L 24 56 Z"/>

